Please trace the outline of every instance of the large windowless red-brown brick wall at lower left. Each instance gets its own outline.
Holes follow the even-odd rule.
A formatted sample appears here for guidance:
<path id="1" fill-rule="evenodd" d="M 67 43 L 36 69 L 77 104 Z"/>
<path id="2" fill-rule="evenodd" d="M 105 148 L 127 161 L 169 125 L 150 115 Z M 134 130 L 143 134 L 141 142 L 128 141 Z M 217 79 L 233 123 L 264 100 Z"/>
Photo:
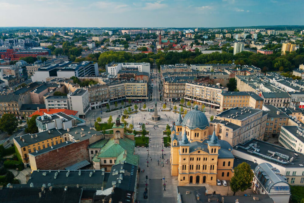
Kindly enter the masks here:
<path id="1" fill-rule="evenodd" d="M 64 170 L 65 167 L 83 161 L 90 161 L 88 154 L 89 140 L 74 142 L 70 145 L 43 153 L 35 157 L 37 169 Z"/>

